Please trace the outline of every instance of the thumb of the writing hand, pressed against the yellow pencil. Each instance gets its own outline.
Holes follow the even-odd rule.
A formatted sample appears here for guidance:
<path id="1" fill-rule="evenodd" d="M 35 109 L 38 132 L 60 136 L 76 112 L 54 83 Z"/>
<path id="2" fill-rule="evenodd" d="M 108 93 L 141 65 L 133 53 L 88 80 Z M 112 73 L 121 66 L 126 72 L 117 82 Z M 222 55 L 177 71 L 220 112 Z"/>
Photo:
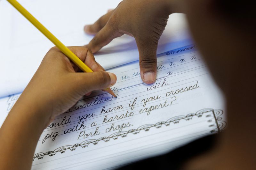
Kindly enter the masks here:
<path id="1" fill-rule="evenodd" d="M 90 73 L 73 73 L 73 87 L 80 94 L 85 95 L 93 90 L 102 90 L 116 83 L 116 75 L 106 71 Z"/>

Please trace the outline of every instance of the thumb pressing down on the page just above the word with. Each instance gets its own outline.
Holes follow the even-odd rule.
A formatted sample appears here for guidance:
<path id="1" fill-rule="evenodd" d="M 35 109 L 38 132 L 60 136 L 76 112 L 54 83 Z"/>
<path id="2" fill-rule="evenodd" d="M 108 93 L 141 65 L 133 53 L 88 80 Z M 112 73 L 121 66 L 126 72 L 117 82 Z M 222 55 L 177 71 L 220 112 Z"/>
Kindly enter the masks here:
<path id="1" fill-rule="evenodd" d="M 140 55 L 140 76 L 144 83 L 152 84 L 156 81 L 156 49 L 158 39 L 136 39 Z"/>

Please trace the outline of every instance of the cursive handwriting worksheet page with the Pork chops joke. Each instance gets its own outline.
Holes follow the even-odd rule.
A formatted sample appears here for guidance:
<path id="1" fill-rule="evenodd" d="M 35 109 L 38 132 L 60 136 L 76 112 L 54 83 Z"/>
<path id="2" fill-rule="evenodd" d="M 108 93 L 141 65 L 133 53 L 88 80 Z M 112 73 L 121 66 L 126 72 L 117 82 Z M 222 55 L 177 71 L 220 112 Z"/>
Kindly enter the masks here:
<path id="1" fill-rule="evenodd" d="M 142 82 L 138 61 L 108 71 L 117 75 L 118 98 L 93 92 L 58 116 L 38 141 L 32 169 L 115 168 L 226 126 L 223 97 L 195 45 L 159 54 L 152 85 Z M 1 99 L 2 108 L 18 97 Z"/>

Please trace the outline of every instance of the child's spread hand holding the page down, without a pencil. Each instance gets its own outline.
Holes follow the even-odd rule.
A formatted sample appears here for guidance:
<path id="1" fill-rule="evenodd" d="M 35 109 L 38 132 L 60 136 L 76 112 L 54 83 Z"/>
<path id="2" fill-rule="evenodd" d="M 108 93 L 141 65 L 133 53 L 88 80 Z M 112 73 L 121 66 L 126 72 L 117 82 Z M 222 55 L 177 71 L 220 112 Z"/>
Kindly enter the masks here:
<path id="1" fill-rule="evenodd" d="M 95 53 L 123 34 L 135 38 L 140 54 L 140 76 L 147 83 L 156 80 L 156 49 L 169 14 L 179 12 L 180 0 L 123 0 L 116 9 L 100 17 L 85 33 L 96 34 L 87 45 Z"/>

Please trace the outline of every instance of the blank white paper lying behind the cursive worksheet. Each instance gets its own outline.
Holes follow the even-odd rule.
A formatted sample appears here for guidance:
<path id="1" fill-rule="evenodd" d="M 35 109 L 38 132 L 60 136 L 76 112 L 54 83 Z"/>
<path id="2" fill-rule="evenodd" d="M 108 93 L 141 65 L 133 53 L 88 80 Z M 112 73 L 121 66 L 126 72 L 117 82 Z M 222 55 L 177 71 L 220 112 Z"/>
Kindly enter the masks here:
<path id="1" fill-rule="evenodd" d="M 46 28 L 67 46 L 87 44 L 92 36 L 83 31 L 119 0 L 20 0 Z M 159 41 L 157 54 L 191 44 L 183 14 L 172 14 Z M 0 1 L 0 97 L 22 92 L 32 78 L 42 58 L 53 46 L 7 1 Z M 95 54 L 105 68 L 112 68 L 139 58 L 132 37 L 123 36 Z"/>

